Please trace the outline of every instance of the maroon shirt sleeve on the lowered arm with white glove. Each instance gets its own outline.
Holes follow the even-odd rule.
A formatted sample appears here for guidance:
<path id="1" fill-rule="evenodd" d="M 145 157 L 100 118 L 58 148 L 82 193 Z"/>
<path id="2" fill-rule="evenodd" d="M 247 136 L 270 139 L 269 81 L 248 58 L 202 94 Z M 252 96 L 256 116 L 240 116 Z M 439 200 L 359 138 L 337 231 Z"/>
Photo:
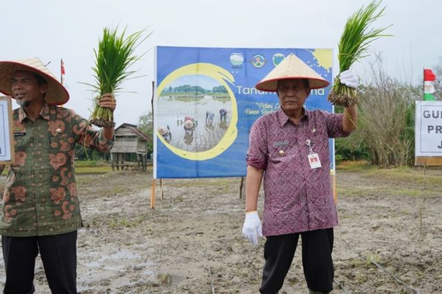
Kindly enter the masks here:
<path id="1" fill-rule="evenodd" d="M 262 119 L 251 127 L 246 162 L 247 166 L 254 168 L 265 170 L 267 167 L 267 130 Z"/>

